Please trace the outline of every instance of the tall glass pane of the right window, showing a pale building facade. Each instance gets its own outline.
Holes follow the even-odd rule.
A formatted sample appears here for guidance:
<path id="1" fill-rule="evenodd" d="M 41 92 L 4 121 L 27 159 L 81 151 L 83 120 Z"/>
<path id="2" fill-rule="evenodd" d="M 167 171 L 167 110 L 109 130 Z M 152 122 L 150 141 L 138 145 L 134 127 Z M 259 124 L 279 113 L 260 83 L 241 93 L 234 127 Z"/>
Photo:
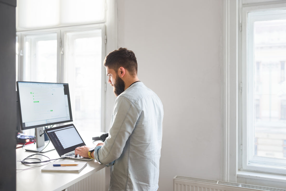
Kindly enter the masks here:
<path id="1" fill-rule="evenodd" d="M 254 155 L 284 158 L 286 20 L 254 22 Z"/>

